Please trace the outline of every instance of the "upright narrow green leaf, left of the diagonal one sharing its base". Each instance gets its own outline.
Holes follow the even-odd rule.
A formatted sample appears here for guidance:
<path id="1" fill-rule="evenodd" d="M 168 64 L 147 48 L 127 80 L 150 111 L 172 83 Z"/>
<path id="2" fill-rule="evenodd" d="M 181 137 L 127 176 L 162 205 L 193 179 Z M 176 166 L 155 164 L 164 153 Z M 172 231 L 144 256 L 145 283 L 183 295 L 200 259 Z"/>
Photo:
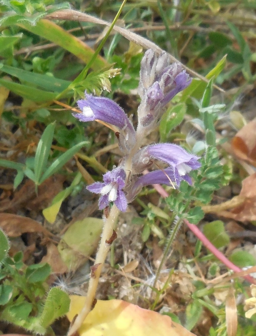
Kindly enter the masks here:
<path id="1" fill-rule="evenodd" d="M 39 185 L 40 177 L 43 171 L 46 168 L 48 157 L 51 150 L 53 134 L 55 129 L 55 123 L 49 124 L 44 133 L 41 136 L 41 139 L 37 146 L 37 152 L 35 156 L 35 183 Z"/>

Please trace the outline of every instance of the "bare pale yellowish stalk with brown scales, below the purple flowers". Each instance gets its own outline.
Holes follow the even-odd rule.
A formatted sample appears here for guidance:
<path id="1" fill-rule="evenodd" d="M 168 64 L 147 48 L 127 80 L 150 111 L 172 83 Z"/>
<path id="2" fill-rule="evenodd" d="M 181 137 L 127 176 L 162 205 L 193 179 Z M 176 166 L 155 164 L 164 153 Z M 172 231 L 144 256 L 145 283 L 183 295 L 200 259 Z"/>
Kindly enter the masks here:
<path id="1" fill-rule="evenodd" d="M 92 304 L 95 298 L 95 293 L 98 287 L 102 266 L 106 260 L 106 257 L 107 257 L 107 254 L 109 252 L 110 245 L 111 245 L 109 243 L 106 243 L 106 241 L 108 241 L 113 234 L 113 230 L 115 229 L 116 224 L 117 224 L 119 212 L 120 210 L 118 210 L 117 207 L 113 205 L 113 207 L 110 210 L 108 218 L 105 218 L 104 220 L 104 227 L 102 231 L 101 242 L 100 242 L 99 250 L 97 252 L 97 256 L 94 262 L 94 266 L 92 266 L 94 268 L 93 268 L 93 271 L 92 271 L 92 274 L 89 280 L 89 287 L 88 287 L 86 300 L 85 300 L 82 310 L 79 312 L 67 336 L 73 335 L 81 327 L 82 323 L 84 322 L 84 319 L 86 318 L 86 316 L 91 310 L 91 307 L 92 307 Z"/>

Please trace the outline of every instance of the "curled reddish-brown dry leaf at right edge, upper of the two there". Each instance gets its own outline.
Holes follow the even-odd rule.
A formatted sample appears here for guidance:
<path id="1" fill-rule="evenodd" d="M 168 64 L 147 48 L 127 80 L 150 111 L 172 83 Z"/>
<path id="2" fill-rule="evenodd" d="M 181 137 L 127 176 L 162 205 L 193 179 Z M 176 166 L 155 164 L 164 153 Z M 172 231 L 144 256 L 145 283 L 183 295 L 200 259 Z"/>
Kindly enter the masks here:
<path id="1" fill-rule="evenodd" d="M 256 118 L 245 125 L 232 139 L 235 155 L 256 167 Z"/>

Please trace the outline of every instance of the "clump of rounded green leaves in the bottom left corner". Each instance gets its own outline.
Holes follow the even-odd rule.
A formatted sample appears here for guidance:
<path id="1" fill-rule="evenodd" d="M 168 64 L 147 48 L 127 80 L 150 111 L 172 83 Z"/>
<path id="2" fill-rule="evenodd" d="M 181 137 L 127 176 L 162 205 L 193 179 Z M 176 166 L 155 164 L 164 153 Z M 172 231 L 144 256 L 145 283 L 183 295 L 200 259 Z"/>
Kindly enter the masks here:
<path id="1" fill-rule="evenodd" d="M 8 240 L 0 230 L 0 255 L 8 252 Z M 0 268 L 0 321 L 35 333 L 49 333 L 50 325 L 69 310 L 69 297 L 52 288 L 48 295 L 49 264 L 26 266 L 23 253 L 5 256 Z M 46 297 L 47 296 L 47 297 Z M 45 301 L 46 297 L 46 301 Z M 42 310 L 42 306 L 44 306 Z"/>

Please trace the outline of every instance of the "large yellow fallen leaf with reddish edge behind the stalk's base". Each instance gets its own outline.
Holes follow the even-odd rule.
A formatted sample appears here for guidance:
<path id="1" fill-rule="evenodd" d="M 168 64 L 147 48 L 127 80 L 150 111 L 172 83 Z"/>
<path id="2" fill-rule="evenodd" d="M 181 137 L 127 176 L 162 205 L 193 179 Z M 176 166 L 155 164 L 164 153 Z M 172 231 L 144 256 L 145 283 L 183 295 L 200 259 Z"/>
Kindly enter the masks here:
<path id="1" fill-rule="evenodd" d="M 70 321 L 82 309 L 85 297 L 71 295 Z M 98 300 L 78 330 L 81 336 L 192 336 L 169 316 L 122 300 Z M 194 335 L 195 336 L 195 335 Z"/>

